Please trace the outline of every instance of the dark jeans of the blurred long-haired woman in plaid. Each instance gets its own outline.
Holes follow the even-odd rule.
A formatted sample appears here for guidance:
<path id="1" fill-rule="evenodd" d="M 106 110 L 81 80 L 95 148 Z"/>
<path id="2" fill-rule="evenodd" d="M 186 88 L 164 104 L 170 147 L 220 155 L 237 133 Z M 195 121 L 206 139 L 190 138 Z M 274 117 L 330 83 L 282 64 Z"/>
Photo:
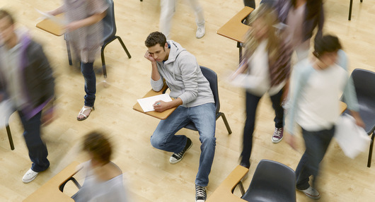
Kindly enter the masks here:
<path id="1" fill-rule="evenodd" d="M 275 109 L 275 127 L 282 128 L 284 126 L 284 109 L 281 106 L 283 90 L 276 95 L 270 96 L 272 107 Z M 255 96 L 246 91 L 246 121 L 243 129 L 243 148 L 241 152 L 241 165 L 250 166 L 251 149 L 253 148 L 253 133 L 255 127 L 255 114 L 258 102 L 261 97 Z"/>

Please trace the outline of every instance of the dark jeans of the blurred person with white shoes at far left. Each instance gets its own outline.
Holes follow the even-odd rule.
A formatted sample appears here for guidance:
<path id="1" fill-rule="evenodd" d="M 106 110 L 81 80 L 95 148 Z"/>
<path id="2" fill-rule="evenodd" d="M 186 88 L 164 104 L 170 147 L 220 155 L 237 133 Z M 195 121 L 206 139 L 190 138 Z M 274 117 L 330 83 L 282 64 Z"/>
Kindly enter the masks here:
<path id="1" fill-rule="evenodd" d="M 42 172 L 50 167 L 50 161 L 47 160 L 47 147 L 40 138 L 40 118 L 42 112 L 35 114 L 31 119 L 27 119 L 21 111 L 18 111 L 21 122 L 25 131 L 23 138 L 25 138 L 26 145 L 28 146 L 28 155 L 31 162 L 31 170 L 35 172 Z"/>

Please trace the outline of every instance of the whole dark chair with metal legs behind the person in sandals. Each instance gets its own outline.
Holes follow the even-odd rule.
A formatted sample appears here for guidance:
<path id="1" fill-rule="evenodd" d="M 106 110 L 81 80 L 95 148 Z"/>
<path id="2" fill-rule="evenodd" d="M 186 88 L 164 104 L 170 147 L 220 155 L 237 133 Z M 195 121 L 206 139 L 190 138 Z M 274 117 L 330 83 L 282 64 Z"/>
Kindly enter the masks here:
<path id="1" fill-rule="evenodd" d="M 102 66 L 103 66 L 103 76 L 104 78 L 107 78 L 107 69 L 105 68 L 105 57 L 104 57 L 104 49 L 105 47 L 114 40 L 119 40 L 122 48 L 125 50 L 127 57 L 132 58 L 132 56 L 129 54 L 129 51 L 127 50 L 127 47 L 125 46 L 124 42 L 122 42 L 121 37 L 116 35 L 116 23 L 115 23 L 115 6 L 113 3 L 113 0 L 106 0 L 108 4 L 108 9 L 106 16 L 103 18 L 103 46 L 100 51 L 100 56 L 102 59 Z M 64 35 L 65 37 L 65 35 Z M 68 51 L 68 57 L 69 57 L 69 65 L 72 65 L 71 62 L 71 52 L 70 52 L 70 46 L 69 42 L 67 41 L 67 51 Z"/>

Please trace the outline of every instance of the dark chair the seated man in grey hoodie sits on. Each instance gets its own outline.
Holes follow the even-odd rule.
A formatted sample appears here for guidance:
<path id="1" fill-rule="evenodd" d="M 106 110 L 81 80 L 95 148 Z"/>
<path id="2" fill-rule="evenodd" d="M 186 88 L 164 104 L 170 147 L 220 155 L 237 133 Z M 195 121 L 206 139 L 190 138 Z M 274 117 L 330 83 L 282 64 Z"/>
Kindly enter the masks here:
<path id="1" fill-rule="evenodd" d="M 223 118 L 224 124 L 226 126 L 226 130 L 229 134 L 232 133 L 231 127 L 228 124 L 228 121 L 226 120 L 225 114 L 220 111 L 220 100 L 219 100 L 219 88 L 217 85 L 217 73 L 212 71 L 212 69 L 208 69 L 207 67 L 200 66 L 200 70 L 203 73 L 203 76 L 207 78 L 207 81 L 209 82 L 209 87 L 211 87 L 212 94 L 214 94 L 214 100 L 215 100 L 215 107 L 216 107 L 216 119 L 219 119 L 220 117 Z M 165 91 L 163 92 L 165 93 Z M 194 123 L 190 122 L 188 125 L 185 126 L 186 129 L 190 129 L 193 131 L 198 131 L 195 127 Z"/>

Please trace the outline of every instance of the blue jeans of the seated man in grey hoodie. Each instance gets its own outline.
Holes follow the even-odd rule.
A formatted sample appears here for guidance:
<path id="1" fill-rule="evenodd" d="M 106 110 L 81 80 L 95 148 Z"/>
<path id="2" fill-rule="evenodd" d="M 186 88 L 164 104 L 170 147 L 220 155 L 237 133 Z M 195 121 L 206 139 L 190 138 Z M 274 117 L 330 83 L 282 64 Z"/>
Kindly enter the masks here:
<path id="1" fill-rule="evenodd" d="M 214 160 L 216 138 L 216 108 L 214 103 L 207 103 L 196 107 L 179 106 L 165 120 L 161 120 L 154 134 L 151 136 L 151 145 L 154 148 L 173 153 L 180 153 L 185 148 L 186 136 L 175 135 L 177 131 L 192 121 L 200 133 L 200 166 L 195 184 L 207 186 L 209 172 Z"/>

